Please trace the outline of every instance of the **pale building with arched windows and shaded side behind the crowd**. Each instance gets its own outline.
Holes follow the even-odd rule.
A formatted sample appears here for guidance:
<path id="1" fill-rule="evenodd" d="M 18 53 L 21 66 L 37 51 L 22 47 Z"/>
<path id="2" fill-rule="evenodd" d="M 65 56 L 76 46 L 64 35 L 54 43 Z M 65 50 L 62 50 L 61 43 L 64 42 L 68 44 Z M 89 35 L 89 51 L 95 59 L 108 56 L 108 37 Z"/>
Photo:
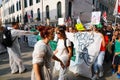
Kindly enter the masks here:
<path id="1" fill-rule="evenodd" d="M 46 19 L 56 22 L 58 18 L 80 17 L 89 22 L 93 11 L 93 0 L 2 0 L 2 22 L 18 21 L 45 23 Z"/>

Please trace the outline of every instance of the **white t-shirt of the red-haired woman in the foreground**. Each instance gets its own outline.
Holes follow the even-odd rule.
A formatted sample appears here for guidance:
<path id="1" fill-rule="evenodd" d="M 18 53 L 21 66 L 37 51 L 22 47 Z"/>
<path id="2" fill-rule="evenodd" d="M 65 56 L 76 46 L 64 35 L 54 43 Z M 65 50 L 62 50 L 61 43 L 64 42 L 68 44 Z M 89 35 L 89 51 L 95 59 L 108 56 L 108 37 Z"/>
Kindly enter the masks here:
<path id="1" fill-rule="evenodd" d="M 33 60 L 32 63 L 39 63 L 39 64 L 44 64 L 46 67 L 51 67 L 51 58 L 52 58 L 52 50 L 51 48 L 46 45 L 43 40 L 39 40 L 33 50 Z"/>

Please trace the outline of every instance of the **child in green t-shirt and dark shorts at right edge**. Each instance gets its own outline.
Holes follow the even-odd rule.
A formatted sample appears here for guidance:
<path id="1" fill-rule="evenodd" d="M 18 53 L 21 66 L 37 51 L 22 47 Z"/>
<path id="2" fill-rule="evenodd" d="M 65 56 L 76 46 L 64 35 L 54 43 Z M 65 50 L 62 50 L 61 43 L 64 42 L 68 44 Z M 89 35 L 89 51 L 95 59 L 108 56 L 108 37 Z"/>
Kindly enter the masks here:
<path id="1" fill-rule="evenodd" d="M 118 39 L 115 40 L 115 55 L 113 59 L 112 73 L 115 73 L 116 66 L 118 66 L 117 78 L 120 79 L 120 34 L 118 34 Z"/>

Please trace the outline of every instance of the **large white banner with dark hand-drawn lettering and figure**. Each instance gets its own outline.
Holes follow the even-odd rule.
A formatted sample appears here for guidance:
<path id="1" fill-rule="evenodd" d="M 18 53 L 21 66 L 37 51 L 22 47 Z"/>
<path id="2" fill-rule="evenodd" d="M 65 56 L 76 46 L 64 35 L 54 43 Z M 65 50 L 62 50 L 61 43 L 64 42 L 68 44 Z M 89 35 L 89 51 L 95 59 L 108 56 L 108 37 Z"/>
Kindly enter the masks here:
<path id="1" fill-rule="evenodd" d="M 76 50 L 75 61 L 71 60 L 69 70 L 84 77 L 91 78 L 91 67 L 98 56 L 102 38 L 95 32 L 78 32 L 74 35 Z"/>

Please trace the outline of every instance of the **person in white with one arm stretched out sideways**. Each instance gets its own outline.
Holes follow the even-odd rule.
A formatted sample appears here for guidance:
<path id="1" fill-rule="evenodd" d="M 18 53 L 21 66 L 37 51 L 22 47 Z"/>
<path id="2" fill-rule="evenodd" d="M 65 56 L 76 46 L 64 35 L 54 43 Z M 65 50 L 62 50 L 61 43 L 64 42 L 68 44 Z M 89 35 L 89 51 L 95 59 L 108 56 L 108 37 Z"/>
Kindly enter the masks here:
<path id="1" fill-rule="evenodd" d="M 18 72 L 23 73 L 26 71 L 26 68 L 21 58 L 21 50 L 18 42 L 18 37 L 22 35 L 33 35 L 33 34 L 37 34 L 37 32 L 19 30 L 18 22 L 12 23 L 11 35 L 14 42 L 11 47 L 7 47 L 7 52 L 9 54 L 9 64 L 12 74 Z"/>

